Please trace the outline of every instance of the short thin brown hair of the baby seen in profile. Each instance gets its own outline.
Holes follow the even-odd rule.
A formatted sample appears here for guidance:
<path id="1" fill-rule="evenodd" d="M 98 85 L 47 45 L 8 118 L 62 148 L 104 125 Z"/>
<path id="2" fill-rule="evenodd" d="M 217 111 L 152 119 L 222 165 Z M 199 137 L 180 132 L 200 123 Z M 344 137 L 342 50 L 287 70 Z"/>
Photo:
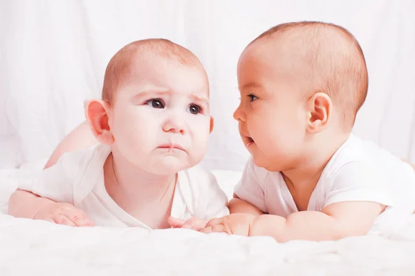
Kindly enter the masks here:
<path id="1" fill-rule="evenodd" d="M 302 21 L 283 23 L 255 41 L 287 43 L 302 62 L 302 77 L 311 83 L 305 96 L 325 92 L 338 108 L 346 128 L 353 127 L 365 102 L 368 73 L 362 48 L 353 34 L 333 23 Z"/>

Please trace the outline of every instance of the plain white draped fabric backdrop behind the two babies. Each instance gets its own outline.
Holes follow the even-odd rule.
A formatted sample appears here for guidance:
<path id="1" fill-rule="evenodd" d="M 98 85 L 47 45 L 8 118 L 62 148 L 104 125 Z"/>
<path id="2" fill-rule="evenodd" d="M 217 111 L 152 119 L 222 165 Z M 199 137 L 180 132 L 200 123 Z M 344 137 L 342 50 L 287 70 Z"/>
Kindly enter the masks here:
<path id="1" fill-rule="evenodd" d="M 355 132 L 415 162 L 415 1 L 0 0 L 0 167 L 47 158 L 99 97 L 105 66 L 125 44 L 163 37 L 189 48 L 210 77 L 216 119 L 210 169 L 243 168 L 232 112 L 237 59 L 285 21 L 348 28 L 369 68 Z"/>

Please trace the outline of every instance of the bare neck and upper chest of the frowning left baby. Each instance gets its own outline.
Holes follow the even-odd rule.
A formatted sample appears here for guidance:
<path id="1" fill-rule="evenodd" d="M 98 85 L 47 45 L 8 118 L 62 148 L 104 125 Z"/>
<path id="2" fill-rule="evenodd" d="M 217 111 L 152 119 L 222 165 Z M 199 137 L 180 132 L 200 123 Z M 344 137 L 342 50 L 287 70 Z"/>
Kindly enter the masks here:
<path id="1" fill-rule="evenodd" d="M 104 183 L 107 193 L 124 211 L 151 228 L 167 226 L 176 175 L 145 172 L 111 152 L 104 164 Z"/>

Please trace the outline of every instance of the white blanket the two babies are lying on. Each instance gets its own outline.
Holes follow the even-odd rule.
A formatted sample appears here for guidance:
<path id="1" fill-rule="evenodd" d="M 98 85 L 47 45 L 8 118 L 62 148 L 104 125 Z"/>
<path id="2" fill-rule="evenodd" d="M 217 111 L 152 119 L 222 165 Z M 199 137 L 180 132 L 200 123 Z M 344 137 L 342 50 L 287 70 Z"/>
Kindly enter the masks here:
<path id="1" fill-rule="evenodd" d="M 0 208 L 34 168 L 0 170 Z M 238 172 L 215 172 L 228 195 Z M 278 244 L 192 230 L 71 228 L 0 214 L 0 275 L 415 275 L 415 219 L 389 237 Z"/>

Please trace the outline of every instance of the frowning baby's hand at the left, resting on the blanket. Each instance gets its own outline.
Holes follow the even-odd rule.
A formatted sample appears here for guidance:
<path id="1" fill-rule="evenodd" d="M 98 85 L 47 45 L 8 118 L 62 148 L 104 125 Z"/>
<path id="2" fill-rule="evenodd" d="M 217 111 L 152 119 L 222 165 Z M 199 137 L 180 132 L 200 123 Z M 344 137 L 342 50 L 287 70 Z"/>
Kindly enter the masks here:
<path id="1" fill-rule="evenodd" d="M 53 202 L 45 204 L 33 219 L 44 219 L 67 226 L 93 226 L 93 221 L 86 217 L 83 210 L 77 209 L 68 203 Z"/>

